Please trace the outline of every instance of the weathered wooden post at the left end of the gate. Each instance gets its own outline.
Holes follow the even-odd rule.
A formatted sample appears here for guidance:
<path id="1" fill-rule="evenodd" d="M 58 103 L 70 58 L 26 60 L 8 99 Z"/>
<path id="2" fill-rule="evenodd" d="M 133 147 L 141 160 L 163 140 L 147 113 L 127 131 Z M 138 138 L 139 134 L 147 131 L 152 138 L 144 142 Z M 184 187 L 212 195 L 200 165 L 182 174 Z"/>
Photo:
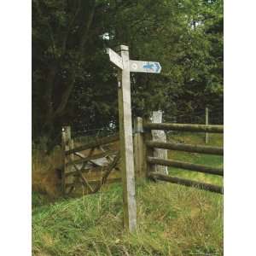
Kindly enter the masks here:
<path id="1" fill-rule="evenodd" d="M 61 190 L 62 194 L 66 194 L 66 173 L 67 173 L 67 156 L 65 151 L 69 149 L 71 140 L 70 126 L 63 126 L 61 131 L 61 146 L 62 146 L 62 173 L 61 173 Z"/>

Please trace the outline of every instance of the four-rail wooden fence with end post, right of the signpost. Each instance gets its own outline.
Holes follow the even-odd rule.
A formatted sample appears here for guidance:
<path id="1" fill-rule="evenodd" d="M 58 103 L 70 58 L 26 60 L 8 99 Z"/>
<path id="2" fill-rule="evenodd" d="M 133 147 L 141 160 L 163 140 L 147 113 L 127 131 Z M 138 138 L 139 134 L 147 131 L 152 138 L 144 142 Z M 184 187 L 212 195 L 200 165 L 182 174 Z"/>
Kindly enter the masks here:
<path id="1" fill-rule="evenodd" d="M 154 148 L 172 149 L 183 152 L 192 152 L 199 154 L 217 154 L 223 155 L 224 149 L 219 147 L 191 145 L 185 143 L 163 143 L 152 140 L 152 130 L 165 130 L 165 131 L 192 131 L 192 132 L 207 132 L 207 133 L 223 133 L 223 125 L 187 125 L 187 124 L 163 124 L 163 123 L 150 123 L 143 122 L 143 119 L 137 118 L 137 152 L 143 152 L 143 154 L 137 154 L 135 157 L 136 171 L 141 173 L 145 177 L 159 179 L 162 181 L 177 183 L 185 186 L 193 186 L 198 189 L 205 189 L 211 192 L 223 194 L 223 187 L 212 185 L 209 183 L 199 183 L 189 179 L 183 179 L 179 177 L 172 177 L 169 175 L 163 175 L 159 172 L 154 172 L 154 165 L 172 166 L 189 171 L 203 172 L 223 177 L 223 168 L 217 168 L 212 166 L 196 165 L 189 162 L 177 161 L 177 160 L 165 160 L 155 158 L 153 154 Z"/>

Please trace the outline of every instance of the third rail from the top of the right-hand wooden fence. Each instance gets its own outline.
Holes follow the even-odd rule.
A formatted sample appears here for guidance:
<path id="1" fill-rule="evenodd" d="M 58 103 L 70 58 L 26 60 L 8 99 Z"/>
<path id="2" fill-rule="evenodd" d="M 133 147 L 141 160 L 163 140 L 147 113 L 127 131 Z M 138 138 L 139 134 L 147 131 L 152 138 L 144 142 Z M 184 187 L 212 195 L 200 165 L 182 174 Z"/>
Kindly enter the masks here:
<path id="1" fill-rule="evenodd" d="M 223 176 L 223 168 L 216 168 L 212 166 L 195 165 L 188 162 L 177 161 L 177 160 L 164 160 L 156 157 L 147 158 L 148 163 L 160 166 L 172 166 L 190 171 L 203 172 L 218 176 Z"/>

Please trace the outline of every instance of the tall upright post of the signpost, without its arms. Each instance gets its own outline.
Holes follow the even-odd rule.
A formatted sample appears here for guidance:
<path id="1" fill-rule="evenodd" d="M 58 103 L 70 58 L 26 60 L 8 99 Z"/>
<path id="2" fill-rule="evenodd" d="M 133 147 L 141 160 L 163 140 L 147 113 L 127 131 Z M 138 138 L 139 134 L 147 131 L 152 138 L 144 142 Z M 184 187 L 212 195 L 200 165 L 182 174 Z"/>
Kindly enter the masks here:
<path id="1" fill-rule="evenodd" d="M 119 136 L 121 151 L 121 172 L 123 183 L 125 229 L 133 232 L 137 227 L 137 207 L 135 197 L 135 177 L 133 163 L 133 142 L 131 125 L 131 82 L 129 48 L 119 46 L 123 70 L 119 70 Z"/>

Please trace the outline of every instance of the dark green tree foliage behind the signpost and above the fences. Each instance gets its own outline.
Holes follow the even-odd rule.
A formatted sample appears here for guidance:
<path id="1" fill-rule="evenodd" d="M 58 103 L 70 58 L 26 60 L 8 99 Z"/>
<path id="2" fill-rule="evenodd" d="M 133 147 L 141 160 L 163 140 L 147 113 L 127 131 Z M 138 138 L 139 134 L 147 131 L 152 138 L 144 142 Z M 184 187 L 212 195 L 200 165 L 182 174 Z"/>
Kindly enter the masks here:
<path id="1" fill-rule="evenodd" d="M 116 68 L 107 47 L 160 61 L 131 74 L 133 115 L 166 116 L 223 101 L 223 1 L 32 1 L 33 137 L 117 124 Z"/>

